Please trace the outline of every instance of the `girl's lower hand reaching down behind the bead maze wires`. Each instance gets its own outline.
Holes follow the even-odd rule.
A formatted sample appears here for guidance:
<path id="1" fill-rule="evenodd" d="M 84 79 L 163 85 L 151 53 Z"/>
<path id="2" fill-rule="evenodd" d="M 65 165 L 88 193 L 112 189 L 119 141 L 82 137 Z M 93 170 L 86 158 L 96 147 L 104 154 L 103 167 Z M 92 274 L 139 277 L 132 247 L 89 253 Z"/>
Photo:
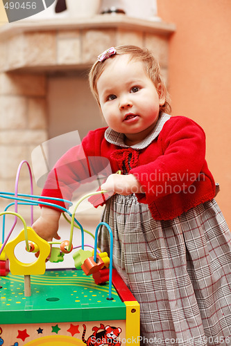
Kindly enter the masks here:
<path id="1" fill-rule="evenodd" d="M 51 242 L 53 238 L 60 239 L 58 235 L 60 215 L 58 210 L 43 207 L 41 216 L 34 222 L 32 228 L 46 242 Z"/>

